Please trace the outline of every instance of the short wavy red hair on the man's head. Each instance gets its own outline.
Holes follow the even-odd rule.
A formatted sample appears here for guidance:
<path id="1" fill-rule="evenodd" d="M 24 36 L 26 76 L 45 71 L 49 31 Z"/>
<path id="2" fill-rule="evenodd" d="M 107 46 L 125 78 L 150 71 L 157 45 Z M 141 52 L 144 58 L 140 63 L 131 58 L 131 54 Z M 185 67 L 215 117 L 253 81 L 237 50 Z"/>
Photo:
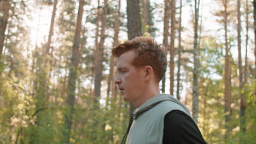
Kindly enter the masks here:
<path id="1" fill-rule="evenodd" d="M 153 68 L 156 79 L 160 81 L 165 75 L 167 66 L 165 47 L 158 45 L 152 38 L 135 37 L 115 46 L 112 49 L 112 55 L 119 57 L 124 52 L 133 49 L 135 49 L 135 58 L 132 64 L 135 67 L 150 65 Z"/>

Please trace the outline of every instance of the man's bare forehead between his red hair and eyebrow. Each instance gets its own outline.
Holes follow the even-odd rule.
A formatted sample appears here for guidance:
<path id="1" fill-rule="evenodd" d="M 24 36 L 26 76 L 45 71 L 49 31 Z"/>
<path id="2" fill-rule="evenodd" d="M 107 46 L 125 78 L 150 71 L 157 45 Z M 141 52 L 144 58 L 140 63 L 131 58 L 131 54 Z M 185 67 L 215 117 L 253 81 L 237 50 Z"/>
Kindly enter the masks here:
<path id="1" fill-rule="evenodd" d="M 124 67 L 131 65 L 133 58 L 135 57 L 135 50 L 130 50 L 122 53 L 117 60 L 117 67 Z"/>

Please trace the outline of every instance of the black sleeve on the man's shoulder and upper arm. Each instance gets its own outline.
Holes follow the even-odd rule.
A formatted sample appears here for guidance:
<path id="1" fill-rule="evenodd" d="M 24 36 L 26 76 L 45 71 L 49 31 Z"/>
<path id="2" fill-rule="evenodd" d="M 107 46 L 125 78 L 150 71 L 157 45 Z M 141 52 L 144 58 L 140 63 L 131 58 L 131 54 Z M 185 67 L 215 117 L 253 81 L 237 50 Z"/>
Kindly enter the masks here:
<path id="1" fill-rule="evenodd" d="M 206 143 L 199 128 L 186 113 L 171 111 L 165 115 L 164 121 L 163 144 Z"/>

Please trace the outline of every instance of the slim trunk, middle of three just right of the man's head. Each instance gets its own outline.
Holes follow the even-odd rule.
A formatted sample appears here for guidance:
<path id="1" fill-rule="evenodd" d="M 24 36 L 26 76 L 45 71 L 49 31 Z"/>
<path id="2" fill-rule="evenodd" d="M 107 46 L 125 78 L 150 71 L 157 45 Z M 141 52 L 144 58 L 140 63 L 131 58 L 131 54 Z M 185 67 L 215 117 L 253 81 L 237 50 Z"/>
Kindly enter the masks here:
<path id="1" fill-rule="evenodd" d="M 171 1 L 171 46 L 170 46 L 170 94 L 173 95 L 173 87 L 174 87 L 174 39 L 175 39 L 175 11 L 176 11 L 176 0 Z"/>

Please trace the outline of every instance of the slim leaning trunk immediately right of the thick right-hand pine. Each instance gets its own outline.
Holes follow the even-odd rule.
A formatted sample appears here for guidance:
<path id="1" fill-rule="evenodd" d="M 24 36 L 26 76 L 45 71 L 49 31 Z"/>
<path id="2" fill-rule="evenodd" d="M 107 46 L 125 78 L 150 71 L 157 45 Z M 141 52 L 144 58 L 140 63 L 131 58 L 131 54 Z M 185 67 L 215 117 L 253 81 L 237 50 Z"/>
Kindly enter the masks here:
<path id="1" fill-rule="evenodd" d="M 245 131 L 245 110 L 246 101 L 243 94 L 243 71 L 241 57 L 241 11 L 240 0 L 237 0 L 237 42 L 238 42 L 238 70 L 239 70 L 239 90 L 240 90 L 240 130 Z"/>

